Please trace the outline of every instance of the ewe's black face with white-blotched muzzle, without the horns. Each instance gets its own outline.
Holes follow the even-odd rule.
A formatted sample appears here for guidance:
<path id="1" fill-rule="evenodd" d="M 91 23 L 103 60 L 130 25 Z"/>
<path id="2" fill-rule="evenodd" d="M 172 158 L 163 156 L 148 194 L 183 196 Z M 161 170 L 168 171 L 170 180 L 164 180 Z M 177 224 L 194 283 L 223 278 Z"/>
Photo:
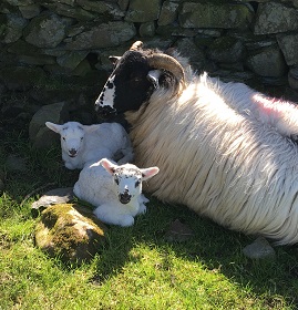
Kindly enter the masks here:
<path id="1" fill-rule="evenodd" d="M 154 82 L 147 76 L 150 71 L 147 60 L 141 52 L 127 51 L 117 59 L 114 71 L 95 102 L 99 115 L 109 117 L 138 110 L 154 90 Z"/>

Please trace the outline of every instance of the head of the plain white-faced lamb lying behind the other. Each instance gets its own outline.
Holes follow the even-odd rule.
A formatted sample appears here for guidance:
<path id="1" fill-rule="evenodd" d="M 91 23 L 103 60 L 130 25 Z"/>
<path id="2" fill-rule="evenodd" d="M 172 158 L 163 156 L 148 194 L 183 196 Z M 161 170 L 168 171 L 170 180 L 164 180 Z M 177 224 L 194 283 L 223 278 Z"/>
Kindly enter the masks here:
<path id="1" fill-rule="evenodd" d="M 88 126 L 78 122 L 68 122 L 62 125 L 47 122 L 45 125 L 60 134 L 61 148 L 70 157 L 76 157 L 80 154 L 80 151 L 84 147 L 85 134 L 99 128 L 99 125 Z"/>

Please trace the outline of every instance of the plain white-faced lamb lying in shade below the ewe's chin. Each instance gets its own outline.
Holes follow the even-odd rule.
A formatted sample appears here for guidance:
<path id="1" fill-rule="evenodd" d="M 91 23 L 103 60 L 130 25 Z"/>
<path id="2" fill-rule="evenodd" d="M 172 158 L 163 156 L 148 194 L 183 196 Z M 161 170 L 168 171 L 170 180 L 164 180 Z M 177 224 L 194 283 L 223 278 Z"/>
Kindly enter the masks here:
<path id="1" fill-rule="evenodd" d="M 82 125 L 68 122 L 58 125 L 47 122 L 45 125 L 60 134 L 62 159 L 69 169 L 81 169 L 104 157 L 119 159 L 120 164 L 133 159 L 130 137 L 117 123 Z"/>

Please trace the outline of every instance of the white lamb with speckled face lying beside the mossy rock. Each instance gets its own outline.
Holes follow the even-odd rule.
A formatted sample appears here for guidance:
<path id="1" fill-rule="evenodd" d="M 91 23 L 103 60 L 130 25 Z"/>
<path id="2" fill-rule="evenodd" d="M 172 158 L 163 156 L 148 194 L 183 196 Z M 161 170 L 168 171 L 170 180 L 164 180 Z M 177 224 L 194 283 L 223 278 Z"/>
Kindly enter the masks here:
<path id="1" fill-rule="evenodd" d="M 73 192 L 96 206 L 94 215 L 103 223 L 132 226 L 134 217 L 146 211 L 148 199 L 142 195 L 142 182 L 158 170 L 157 167 L 141 169 L 132 164 L 119 166 L 103 158 L 81 170 Z"/>

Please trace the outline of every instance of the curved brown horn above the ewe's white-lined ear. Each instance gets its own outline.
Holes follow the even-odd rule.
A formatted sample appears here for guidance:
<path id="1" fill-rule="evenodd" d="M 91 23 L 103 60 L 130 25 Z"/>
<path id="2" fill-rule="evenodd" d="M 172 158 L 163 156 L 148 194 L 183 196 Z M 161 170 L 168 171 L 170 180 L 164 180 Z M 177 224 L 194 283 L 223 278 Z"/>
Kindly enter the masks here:
<path id="1" fill-rule="evenodd" d="M 153 54 L 148 56 L 148 63 L 155 69 L 164 69 L 174 74 L 181 81 L 185 81 L 183 66 L 172 56 L 166 54 Z"/>

